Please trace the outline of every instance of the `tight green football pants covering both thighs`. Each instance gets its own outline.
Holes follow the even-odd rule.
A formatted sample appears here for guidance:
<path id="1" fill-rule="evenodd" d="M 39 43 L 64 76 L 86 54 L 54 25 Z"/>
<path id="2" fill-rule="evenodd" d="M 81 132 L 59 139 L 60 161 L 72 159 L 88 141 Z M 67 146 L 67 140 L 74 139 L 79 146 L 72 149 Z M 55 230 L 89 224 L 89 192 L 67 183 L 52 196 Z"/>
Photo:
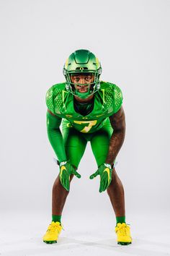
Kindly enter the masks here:
<path id="1" fill-rule="evenodd" d="M 94 157 L 97 161 L 97 166 L 100 166 L 107 158 L 109 140 L 112 132 L 113 129 L 109 119 L 101 129 L 89 134 L 77 131 L 71 127 L 71 123 L 64 120 L 63 141 L 67 159 L 71 161 L 73 166 L 78 168 L 81 158 L 84 155 L 86 144 L 89 141 L 91 143 L 91 149 L 94 153 Z"/>

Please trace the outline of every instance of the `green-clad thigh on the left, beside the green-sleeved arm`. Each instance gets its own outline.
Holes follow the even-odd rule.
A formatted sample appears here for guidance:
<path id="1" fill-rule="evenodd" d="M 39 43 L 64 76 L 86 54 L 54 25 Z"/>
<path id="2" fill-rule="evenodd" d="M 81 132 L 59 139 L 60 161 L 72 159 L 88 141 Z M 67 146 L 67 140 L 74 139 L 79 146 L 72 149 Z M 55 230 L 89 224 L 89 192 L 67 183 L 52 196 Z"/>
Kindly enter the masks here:
<path id="1" fill-rule="evenodd" d="M 63 141 L 67 158 L 73 166 L 78 168 L 81 158 L 84 155 L 87 141 L 81 135 L 81 132 L 78 132 L 73 127 L 69 127 L 69 125 L 63 127 Z"/>

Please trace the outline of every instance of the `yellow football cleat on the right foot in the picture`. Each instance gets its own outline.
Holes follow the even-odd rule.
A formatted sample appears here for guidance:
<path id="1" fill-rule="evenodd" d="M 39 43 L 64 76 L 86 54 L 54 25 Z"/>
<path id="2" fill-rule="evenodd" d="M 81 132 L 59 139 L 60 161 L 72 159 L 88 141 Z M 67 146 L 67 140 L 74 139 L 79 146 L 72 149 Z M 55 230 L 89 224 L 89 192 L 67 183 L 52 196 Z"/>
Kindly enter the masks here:
<path id="1" fill-rule="evenodd" d="M 128 245 L 132 243 L 130 226 L 128 226 L 126 223 L 117 223 L 115 232 L 117 234 L 117 244 Z"/>

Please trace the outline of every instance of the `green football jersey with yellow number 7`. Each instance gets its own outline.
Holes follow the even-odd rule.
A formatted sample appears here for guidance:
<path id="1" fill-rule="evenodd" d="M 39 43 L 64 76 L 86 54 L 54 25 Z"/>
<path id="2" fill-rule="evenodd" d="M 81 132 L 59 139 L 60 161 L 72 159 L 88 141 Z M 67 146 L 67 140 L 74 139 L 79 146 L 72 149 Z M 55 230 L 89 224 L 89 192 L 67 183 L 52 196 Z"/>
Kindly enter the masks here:
<path id="1" fill-rule="evenodd" d="M 48 90 L 46 104 L 53 114 L 66 119 L 68 126 L 79 132 L 91 133 L 102 128 L 107 117 L 119 111 L 122 105 L 122 91 L 111 82 L 101 82 L 100 89 L 94 93 L 93 110 L 82 116 L 75 111 L 73 95 L 66 90 L 66 83 L 63 82 Z"/>

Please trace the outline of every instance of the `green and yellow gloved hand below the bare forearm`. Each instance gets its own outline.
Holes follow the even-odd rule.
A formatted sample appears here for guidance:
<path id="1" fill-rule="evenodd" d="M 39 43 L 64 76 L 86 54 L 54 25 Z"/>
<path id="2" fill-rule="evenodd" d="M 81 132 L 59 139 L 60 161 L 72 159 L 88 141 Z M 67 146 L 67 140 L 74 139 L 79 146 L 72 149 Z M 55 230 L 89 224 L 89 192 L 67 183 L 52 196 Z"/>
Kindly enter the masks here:
<path id="1" fill-rule="evenodd" d="M 102 163 L 89 178 L 94 179 L 97 175 L 100 175 L 99 192 L 104 192 L 112 181 L 112 166 L 109 163 Z"/>

